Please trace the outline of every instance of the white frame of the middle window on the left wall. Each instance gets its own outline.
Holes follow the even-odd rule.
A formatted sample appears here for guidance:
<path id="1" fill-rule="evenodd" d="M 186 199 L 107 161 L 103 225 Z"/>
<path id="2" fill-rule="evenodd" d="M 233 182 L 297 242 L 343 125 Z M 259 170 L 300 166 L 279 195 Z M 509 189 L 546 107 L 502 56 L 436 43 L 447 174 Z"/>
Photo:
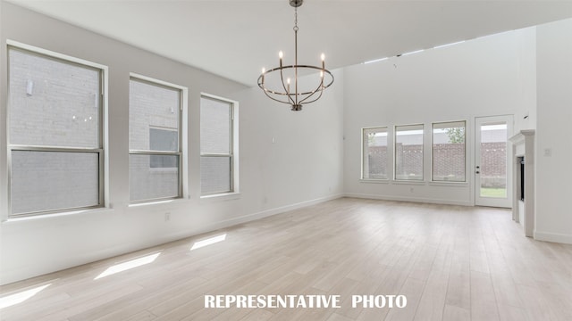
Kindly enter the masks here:
<path id="1" fill-rule="evenodd" d="M 129 154 L 130 155 L 149 155 L 149 156 L 153 156 L 153 155 L 168 155 L 168 156 L 178 156 L 179 157 L 179 175 L 178 175 L 178 187 L 177 187 L 177 195 L 176 196 L 167 196 L 167 197 L 155 197 L 155 198 L 150 198 L 150 199 L 143 199 L 143 200 L 130 200 L 131 204 L 138 204 L 138 203 L 146 203 L 146 202 L 158 202 L 158 201 L 164 201 L 164 200 L 174 200 L 174 199 L 181 199 L 183 198 L 183 193 L 184 193 L 184 184 L 183 184 L 183 177 L 184 177 L 184 167 L 183 164 L 185 163 L 185 161 L 183 160 L 183 156 L 184 156 L 184 143 L 185 141 L 183 141 L 183 132 L 185 132 L 184 128 L 183 128 L 183 118 L 185 115 L 185 110 L 186 110 L 186 102 L 188 99 L 188 88 L 185 86 L 180 86 L 180 85 L 176 85 L 176 84 L 172 84 L 170 82 L 166 82 L 164 80 L 159 80 L 156 78 L 150 78 L 147 76 L 143 76 L 143 75 L 139 75 L 136 73 L 131 72 L 130 73 L 130 78 L 129 81 L 134 80 L 134 81 L 139 81 L 142 83 L 145 83 L 147 85 L 151 85 L 151 86 L 159 86 L 159 87 L 164 87 L 170 90 L 177 90 L 180 92 L 179 95 L 179 108 L 178 111 L 179 112 L 179 123 L 178 123 L 178 150 L 175 152 L 170 152 L 170 151 L 144 151 L 144 150 L 129 150 Z M 150 127 L 150 128 L 156 128 L 156 127 Z M 172 129 L 172 128 L 170 128 Z M 150 164 L 149 164 L 149 170 L 150 172 L 163 172 L 165 170 L 167 171 L 172 171 L 174 170 L 173 168 L 170 169 L 160 169 L 160 168 L 151 168 Z"/>

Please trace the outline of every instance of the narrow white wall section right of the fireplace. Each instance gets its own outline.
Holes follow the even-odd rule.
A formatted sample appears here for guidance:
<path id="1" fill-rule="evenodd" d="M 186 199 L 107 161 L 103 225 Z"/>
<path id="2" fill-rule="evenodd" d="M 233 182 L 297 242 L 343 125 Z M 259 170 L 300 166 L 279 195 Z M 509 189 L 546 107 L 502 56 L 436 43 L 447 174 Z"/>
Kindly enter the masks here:
<path id="1" fill-rule="evenodd" d="M 539 240 L 572 243 L 572 20 L 537 27 L 536 222 Z M 551 151 L 551 156 L 544 154 Z"/>

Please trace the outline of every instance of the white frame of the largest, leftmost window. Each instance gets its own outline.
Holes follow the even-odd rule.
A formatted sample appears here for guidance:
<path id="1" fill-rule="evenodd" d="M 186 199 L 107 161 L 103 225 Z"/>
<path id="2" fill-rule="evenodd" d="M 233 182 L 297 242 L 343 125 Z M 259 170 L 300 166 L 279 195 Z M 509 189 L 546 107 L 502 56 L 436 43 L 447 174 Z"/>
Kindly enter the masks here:
<path id="1" fill-rule="evenodd" d="M 68 63 L 72 65 L 79 65 L 83 68 L 97 70 L 99 75 L 99 99 L 98 99 L 98 146 L 97 148 L 83 148 L 83 147 L 68 147 L 68 146 L 39 146 L 39 145 L 28 145 L 28 144 L 11 144 L 10 139 L 10 110 L 11 106 L 7 104 L 6 112 L 6 141 L 7 141 L 7 166 L 8 166 L 8 216 L 7 218 L 26 218 L 26 217 L 37 217 L 44 215 L 54 215 L 62 212 L 79 212 L 79 210 L 97 209 L 103 208 L 107 204 L 108 199 L 107 191 L 107 163 L 108 160 L 105 156 L 106 150 L 106 129 L 107 129 L 107 83 L 108 83 L 108 68 L 105 65 L 98 64 L 96 62 L 89 62 L 80 58 L 76 58 L 63 53 L 56 53 L 50 50 L 46 50 L 34 45 L 27 45 L 13 40 L 6 40 L 6 62 L 7 62 L 7 83 L 8 92 L 10 91 L 10 51 L 16 50 L 22 53 L 28 53 L 32 55 L 37 55 L 46 59 L 54 60 L 57 62 Z M 12 153 L 13 151 L 24 151 L 24 152 L 80 152 L 80 153 L 97 153 L 98 168 L 98 195 L 97 204 L 91 206 L 83 207 L 68 207 L 53 210 L 36 210 L 24 213 L 13 213 L 12 210 Z"/>

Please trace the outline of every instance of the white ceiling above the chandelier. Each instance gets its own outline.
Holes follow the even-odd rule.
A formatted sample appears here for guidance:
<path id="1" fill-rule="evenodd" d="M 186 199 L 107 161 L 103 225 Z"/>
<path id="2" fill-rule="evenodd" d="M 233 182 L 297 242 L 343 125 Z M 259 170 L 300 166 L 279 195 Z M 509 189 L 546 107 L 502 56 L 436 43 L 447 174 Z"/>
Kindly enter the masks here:
<path id="1" fill-rule="evenodd" d="M 288 0 L 7 0 L 175 61 L 255 86 L 293 63 Z M 335 69 L 572 17 L 568 1 L 306 0 L 299 63 Z"/>

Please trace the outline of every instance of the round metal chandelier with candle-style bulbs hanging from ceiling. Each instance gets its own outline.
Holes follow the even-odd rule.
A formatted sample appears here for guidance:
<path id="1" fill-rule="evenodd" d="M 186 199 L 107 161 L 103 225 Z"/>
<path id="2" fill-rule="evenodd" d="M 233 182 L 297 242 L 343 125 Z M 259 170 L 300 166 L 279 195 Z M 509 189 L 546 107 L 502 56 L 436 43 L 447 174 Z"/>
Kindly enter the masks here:
<path id="1" fill-rule="evenodd" d="M 276 102 L 289 104 L 292 111 L 301 111 L 303 104 L 314 103 L 320 99 L 324 89 L 332 86 L 333 83 L 332 72 L 325 69 L 324 53 L 321 57 L 322 67 L 298 64 L 298 7 L 303 2 L 304 0 L 290 0 L 290 5 L 294 7 L 294 64 L 283 65 L 281 51 L 278 53 L 280 66 L 270 70 L 263 68 L 258 77 L 258 86 L 265 92 L 265 95 Z M 299 85 L 302 85 L 299 84 L 299 74 L 306 76 L 317 71 L 320 76 L 315 80 L 314 85 L 309 85 L 306 89 L 299 88 Z M 307 76 L 307 78 L 310 77 Z"/>

